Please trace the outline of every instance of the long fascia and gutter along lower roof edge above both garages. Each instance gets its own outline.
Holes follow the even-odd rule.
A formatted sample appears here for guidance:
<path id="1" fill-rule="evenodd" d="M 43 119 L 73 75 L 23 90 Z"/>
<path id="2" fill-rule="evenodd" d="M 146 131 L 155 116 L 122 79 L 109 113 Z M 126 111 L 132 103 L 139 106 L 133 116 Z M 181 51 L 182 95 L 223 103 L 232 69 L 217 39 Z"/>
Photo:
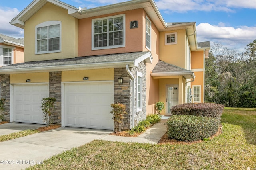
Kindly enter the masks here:
<path id="1" fill-rule="evenodd" d="M 29 68 L 10 68 L 6 70 L 0 70 L 0 74 L 17 74 L 28 72 L 52 72 L 52 71 L 70 71 L 70 70 L 91 70 L 91 69 L 103 69 L 103 68 L 118 68 L 118 67 L 130 67 L 134 66 L 134 61 L 122 61 L 122 62 L 102 62 L 102 63 L 87 63 L 87 64 L 68 64 L 60 66 L 38 66 Z"/>

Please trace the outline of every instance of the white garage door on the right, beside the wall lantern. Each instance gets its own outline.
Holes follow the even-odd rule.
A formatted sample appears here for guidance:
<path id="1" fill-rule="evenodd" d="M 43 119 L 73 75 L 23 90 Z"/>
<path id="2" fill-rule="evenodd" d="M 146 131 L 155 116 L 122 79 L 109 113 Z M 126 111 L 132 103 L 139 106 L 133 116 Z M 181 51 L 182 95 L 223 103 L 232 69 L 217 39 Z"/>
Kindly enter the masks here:
<path id="1" fill-rule="evenodd" d="M 65 85 L 65 126 L 113 130 L 113 82 Z"/>

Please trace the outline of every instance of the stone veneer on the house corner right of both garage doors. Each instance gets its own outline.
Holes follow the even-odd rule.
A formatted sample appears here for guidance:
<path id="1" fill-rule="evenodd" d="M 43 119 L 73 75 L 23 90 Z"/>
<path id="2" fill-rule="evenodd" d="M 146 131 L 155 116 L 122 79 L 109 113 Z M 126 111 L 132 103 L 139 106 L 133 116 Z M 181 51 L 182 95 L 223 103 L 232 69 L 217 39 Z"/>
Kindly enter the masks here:
<path id="1" fill-rule="evenodd" d="M 146 62 L 142 61 L 139 67 L 130 68 L 135 77 L 135 126 L 139 121 L 146 119 Z M 136 112 L 137 98 L 137 71 L 142 73 L 142 111 Z M 123 84 L 118 84 L 118 78 L 123 78 Z M 122 103 L 126 105 L 127 115 L 124 116 L 124 129 L 132 128 L 132 78 L 126 71 L 126 68 L 115 68 L 114 70 L 114 103 Z"/>

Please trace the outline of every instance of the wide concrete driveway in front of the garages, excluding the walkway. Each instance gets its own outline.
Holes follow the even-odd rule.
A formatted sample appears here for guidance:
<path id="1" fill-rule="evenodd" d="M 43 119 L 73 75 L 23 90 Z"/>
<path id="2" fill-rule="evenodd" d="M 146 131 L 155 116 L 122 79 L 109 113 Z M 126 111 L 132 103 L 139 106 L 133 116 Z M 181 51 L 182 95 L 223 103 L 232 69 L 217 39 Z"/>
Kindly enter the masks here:
<path id="1" fill-rule="evenodd" d="M 0 125 L 0 134 L 3 133 L 1 132 L 3 129 L 7 131 L 8 126 L 12 129 L 15 126 L 16 128 L 13 130 L 18 131 L 19 125 L 23 127 L 24 123 L 2 124 Z M 0 142 L 0 170 L 17 170 L 43 163 L 45 159 L 55 154 L 70 150 L 72 147 L 79 147 L 94 139 L 101 139 L 112 132 L 99 129 L 60 127 Z"/>

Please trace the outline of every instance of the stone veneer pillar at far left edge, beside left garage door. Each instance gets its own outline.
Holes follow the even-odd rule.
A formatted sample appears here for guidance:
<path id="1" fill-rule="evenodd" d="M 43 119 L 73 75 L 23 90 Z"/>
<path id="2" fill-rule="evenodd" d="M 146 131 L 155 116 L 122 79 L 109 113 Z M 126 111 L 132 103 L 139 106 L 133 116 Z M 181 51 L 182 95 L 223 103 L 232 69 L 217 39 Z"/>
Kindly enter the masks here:
<path id="1" fill-rule="evenodd" d="M 6 86 L 3 86 L 3 82 Z M 10 121 L 10 74 L 1 75 L 1 98 L 5 99 L 4 120 Z"/>

